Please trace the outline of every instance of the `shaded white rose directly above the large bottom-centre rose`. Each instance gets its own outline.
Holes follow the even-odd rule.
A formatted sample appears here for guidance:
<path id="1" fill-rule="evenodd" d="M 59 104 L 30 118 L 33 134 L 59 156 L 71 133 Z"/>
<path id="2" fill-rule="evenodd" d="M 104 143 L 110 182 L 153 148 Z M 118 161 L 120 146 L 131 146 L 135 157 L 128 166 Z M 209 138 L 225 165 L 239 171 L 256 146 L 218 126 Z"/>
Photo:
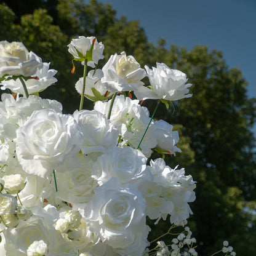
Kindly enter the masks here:
<path id="1" fill-rule="evenodd" d="M 111 178 L 118 178 L 121 185 L 131 182 L 142 182 L 146 175 L 146 157 L 139 150 L 129 146 L 115 146 L 98 157 L 92 171 L 92 177 L 99 185 Z"/>

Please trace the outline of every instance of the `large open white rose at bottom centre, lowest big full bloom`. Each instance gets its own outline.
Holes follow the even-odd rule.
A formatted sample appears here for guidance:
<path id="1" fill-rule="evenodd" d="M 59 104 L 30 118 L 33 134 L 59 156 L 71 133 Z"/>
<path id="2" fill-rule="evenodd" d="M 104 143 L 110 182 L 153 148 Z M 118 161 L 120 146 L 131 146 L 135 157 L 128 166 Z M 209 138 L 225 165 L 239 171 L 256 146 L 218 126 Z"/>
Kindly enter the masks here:
<path id="1" fill-rule="evenodd" d="M 131 186 L 120 186 L 116 178 L 95 188 L 86 206 L 90 230 L 113 248 L 134 244 L 146 229 L 145 201 Z"/>

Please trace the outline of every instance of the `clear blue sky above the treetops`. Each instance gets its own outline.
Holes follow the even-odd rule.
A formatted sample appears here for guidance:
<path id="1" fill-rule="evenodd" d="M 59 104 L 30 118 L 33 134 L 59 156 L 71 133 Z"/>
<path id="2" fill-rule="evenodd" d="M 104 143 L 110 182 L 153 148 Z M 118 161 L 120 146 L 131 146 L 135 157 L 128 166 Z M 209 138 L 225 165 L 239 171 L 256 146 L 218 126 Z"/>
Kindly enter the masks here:
<path id="1" fill-rule="evenodd" d="M 249 82 L 247 95 L 256 97 L 256 0 L 99 1 L 112 4 L 118 17 L 140 20 L 148 41 L 221 50 L 228 66 L 238 67 Z"/>

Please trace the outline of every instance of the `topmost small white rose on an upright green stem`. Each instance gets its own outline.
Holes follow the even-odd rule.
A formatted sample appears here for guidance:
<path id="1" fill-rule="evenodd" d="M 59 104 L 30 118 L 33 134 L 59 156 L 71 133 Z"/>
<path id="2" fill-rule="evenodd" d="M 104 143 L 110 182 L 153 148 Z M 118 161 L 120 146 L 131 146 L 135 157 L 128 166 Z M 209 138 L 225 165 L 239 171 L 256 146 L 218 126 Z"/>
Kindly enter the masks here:
<path id="1" fill-rule="evenodd" d="M 98 64 L 98 60 L 104 58 L 102 55 L 104 45 L 102 42 L 98 42 L 94 36 L 87 38 L 85 36 L 79 36 L 79 38 L 72 39 L 70 44 L 68 44 L 68 52 L 70 52 L 74 58 L 80 59 L 82 56 L 82 58 L 86 59 L 88 57 L 86 54 L 92 47 L 93 43 L 94 47 L 92 49 L 92 60 L 89 60 L 88 65 L 94 68 L 94 64 Z"/>

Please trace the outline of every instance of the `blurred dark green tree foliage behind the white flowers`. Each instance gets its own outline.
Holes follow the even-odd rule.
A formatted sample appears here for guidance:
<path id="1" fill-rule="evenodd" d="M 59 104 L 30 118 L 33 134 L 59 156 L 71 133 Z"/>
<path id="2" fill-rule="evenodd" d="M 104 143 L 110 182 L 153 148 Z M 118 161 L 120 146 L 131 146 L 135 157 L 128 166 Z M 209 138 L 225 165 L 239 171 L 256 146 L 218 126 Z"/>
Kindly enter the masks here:
<path id="1" fill-rule="evenodd" d="M 42 97 L 59 100 L 66 113 L 79 104 L 74 83 L 82 67 L 76 65 L 76 73 L 70 73 L 71 56 L 66 47 L 71 38 L 79 35 L 93 35 L 103 41 L 105 60 L 99 67 L 111 54 L 126 50 L 142 66 L 164 62 L 187 74 L 188 82 L 193 84 L 193 97 L 174 102 L 169 110 L 162 104 L 156 116 L 175 124 L 180 134 L 178 147 L 183 153 L 166 157 L 167 164 L 180 164 L 198 182 L 191 217 L 191 228 L 203 244 L 198 252 L 209 255 L 222 247 L 223 240 L 229 240 L 238 255 L 256 255 L 255 138 L 250 131 L 255 122 L 256 100 L 247 98 L 247 82 L 241 71 L 230 69 L 222 52 L 209 51 L 206 46 L 190 51 L 175 45 L 167 49 L 164 39 L 154 46 L 138 21 L 118 19 L 110 4 L 96 0 L 23 0 L 6 4 L 9 7 L 0 5 L 0 39 L 23 41 L 44 62 L 51 62 L 51 67 L 58 70 L 58 83 Z M 143 104 L 152 113 L 156 102 L 146 100 Z M 158 229 L 155 234 L 162 233 Z"/>

